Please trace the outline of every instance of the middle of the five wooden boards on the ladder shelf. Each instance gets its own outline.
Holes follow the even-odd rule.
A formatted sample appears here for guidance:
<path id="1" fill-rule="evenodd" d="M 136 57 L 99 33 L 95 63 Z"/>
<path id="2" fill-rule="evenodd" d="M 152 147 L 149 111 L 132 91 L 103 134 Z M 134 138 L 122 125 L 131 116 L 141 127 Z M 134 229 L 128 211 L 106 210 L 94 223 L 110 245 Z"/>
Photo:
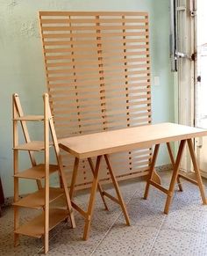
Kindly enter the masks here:
<path id="1" fill-rule="evenodd" d="M 50 165 L 50 173 L 58 171 L 58 165 Z M 18 172 L 14 177 L 23 178 L 23 179 L 43 179 L 46 176 L 45 165 L 40 164 L 34 166 L 30 169 L 27 169 L 23 172 Z"/>

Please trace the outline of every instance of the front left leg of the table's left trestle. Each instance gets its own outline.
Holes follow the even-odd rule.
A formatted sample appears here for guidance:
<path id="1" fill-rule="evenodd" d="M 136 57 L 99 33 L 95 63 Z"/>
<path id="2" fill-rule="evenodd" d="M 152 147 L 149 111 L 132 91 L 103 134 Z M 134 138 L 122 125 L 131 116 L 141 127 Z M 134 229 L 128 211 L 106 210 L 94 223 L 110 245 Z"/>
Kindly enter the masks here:
<path id="1" fill-rule="evenodd" d="M 90 223 L 91 223 L 92 214 L 93 214 L 93 210 L 94 210 L 95 199 L 96 199 L 96 189 L 97 189 L 97 184 L 98 184 L 98 171 L 99 171 L 99 167 L 100 167 L 101 158 L 102 158 L 102 156 L 96 157 L 96 168 L 94 171 L 94 179 L 93 179 L 92 187 L 90 190 L 89 206 L 88 206 L 85 227 L 84 227 L 84 233 L 83 233 L 84 240 L 87 240 L 87 238 L 89 237 L 89 228 L 90 228 Z"/>

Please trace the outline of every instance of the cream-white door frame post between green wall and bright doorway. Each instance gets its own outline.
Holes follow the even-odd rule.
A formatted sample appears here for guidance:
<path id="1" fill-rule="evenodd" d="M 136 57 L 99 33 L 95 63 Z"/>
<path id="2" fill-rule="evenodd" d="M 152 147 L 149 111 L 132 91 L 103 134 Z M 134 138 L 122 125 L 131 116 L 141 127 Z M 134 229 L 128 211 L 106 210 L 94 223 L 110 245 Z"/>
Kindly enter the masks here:
<path id="1" fill-rule="evenodd" d="M 196 99 L 196 0 L 175 0 L 177 74 L 175 79 L 175 121 L 195 126 Z M 180 56 L 179 56 L 180 55 Z M 190 72 L 189 72 L 190 70 Z M 186 76 L 190 74 L 190 76 Z M 176 113 L 177 111 L 177 113 Z M 175 146 L 177 150 L 177 146 Z M 192 171 L 189 152 L 184 151 L 181 169 Z"/>

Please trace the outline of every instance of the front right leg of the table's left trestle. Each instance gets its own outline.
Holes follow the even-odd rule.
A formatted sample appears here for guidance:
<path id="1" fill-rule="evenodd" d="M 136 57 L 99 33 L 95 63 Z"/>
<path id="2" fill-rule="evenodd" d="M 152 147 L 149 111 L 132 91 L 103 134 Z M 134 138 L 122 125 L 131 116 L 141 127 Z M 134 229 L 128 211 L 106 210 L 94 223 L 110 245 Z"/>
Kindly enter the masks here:
<path id="1" fill-rule="evenodd" d="M 125 208 L 125 202 L 124 202 L 124 200 L 122 198 L 122 195 L 120 193 L 120 190 L 119 190 L 119 187 L 118 187 L 118 181 L 116 179 L 116 176 L 114 175 L 114 173 L 112 171 L 112 168 L 111 168 L 111 165 L 110 165 L 110 161 L 109 161 L 109 157 L 108 157 L 108 155 L 104 155 L 104 158 L 105 158 L 106 165 L 109 168 L 109 172 L 110 172 L 111 179 L 112 179 L 113 185 L 115 187 L 116 193 L 118 195 L 119 204 L 120 204 L 120 206 L 122 208 L 122 211 L 124 213 L 124 216 L 125 216 L 125 222 L 126 222 L 126 224 L 128 226 L 130 226 L 130 220 L 129 220 L 129 216 L 128 216 L 127 210 Z"/>

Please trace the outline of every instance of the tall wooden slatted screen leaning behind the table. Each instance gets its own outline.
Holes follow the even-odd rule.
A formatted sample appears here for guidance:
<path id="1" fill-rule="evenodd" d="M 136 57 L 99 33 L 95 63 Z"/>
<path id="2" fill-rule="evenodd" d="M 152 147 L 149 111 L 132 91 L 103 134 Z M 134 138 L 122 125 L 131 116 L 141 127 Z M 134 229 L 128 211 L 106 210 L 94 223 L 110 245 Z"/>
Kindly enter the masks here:
<path id="1" fill-rule="evenodd" d="M 151 123 L 146 12 L 40 11 L 46 82 L 58 138 Z M 118 179 L 147 174 L 151 149 L 111 155 Z M 62 153 L 70 179 L 74 158 Z M 109 175 L 102 163 L 100 178 Z M 82 161 L 78 185 L 92 175 Z"/>

